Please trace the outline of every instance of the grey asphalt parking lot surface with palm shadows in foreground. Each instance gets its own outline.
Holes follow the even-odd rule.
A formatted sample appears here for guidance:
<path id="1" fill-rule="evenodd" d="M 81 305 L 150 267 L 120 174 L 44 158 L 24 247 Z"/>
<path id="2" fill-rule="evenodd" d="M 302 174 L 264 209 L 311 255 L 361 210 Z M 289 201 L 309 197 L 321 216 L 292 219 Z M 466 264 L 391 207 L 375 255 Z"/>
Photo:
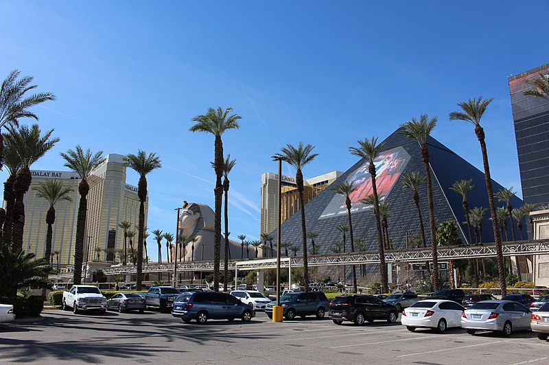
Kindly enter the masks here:
<path id="1" fill-rule="evenodd" d="M 334 325 L 328 318 L 272 323 L 210 320 L 185 325 L 170 314 L 47 310 L 43 320 L 0 325 L 0 362 L 91 364 L 526 364 L 549 363 L 535 333 L 470 336 L 463 329 L 414 333 L 397 321 Z"/>

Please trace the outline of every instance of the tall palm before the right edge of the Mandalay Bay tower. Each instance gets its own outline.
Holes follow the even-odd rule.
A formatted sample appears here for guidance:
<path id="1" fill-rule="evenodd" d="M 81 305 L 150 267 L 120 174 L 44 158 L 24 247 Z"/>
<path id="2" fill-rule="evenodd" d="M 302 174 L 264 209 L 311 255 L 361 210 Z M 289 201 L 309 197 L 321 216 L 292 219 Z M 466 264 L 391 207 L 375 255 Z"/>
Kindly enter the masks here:
<path id="1" fill-rule="evenodd" d="M 161 168 L 161 160 L 156 153 L 145 153 L 141 149 L 137 155 L 130 153 L 124 158 L 126 165 L 139 174 L 137 196 L 139 197 L 139 218 L 137 227 L 137 290 L 143 282 L 143 240 L 145 236 L 145 201 L 147 200 L 147 175 L 156 168 Z"/>

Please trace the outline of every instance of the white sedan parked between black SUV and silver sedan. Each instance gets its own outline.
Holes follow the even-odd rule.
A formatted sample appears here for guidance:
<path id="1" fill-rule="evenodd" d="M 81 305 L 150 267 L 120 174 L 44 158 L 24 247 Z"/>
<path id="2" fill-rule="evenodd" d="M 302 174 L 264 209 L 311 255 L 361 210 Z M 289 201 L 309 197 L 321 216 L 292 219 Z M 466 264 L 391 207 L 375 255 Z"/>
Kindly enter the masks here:
<path id="1" fill-rule="evenodd" d="M 408 331 L 417 327 L 438 329 L 443 333 L 448 327 L 461 326 L 461 314 L 465 308 L 455 301 L 424 300 L 402 311 L 400 322 Z"/>

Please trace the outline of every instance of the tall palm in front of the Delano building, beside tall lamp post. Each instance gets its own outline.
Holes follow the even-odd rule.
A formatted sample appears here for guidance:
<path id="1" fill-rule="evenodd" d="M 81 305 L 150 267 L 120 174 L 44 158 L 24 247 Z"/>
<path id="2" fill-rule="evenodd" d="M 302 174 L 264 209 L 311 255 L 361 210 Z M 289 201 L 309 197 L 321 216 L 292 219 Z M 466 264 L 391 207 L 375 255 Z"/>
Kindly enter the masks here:
<path id="1" fill-rule="evenodd" d="M 286 144 L 286 147 L 281 149 L 281 153 L 277 154 L 283 161 L 294 166 L 296 169 L 296 186 L 299 197 L 299 208 L 301 211 L 301 240 L 303 241 L 303 285 L 305 290 L 310 290 L 309 287 L 309 266 L 307 263 L 307 227 L 305 227 L 305 200 L 303 199 L 303 168 L 311 163 L 318 153 L 312 153 L 314 146 L 312 144 L 303 144 L 299 142 L 296 148 L 292 144 Z"/>

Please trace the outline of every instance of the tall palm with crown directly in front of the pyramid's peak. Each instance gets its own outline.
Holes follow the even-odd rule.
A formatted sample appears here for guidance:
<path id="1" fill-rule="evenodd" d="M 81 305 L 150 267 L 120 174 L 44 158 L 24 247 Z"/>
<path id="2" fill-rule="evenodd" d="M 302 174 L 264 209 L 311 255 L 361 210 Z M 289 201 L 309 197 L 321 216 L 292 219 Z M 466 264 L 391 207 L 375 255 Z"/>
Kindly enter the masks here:
<path id="1" fill-rule="evenodd" d="M 415 140 L 421 147 L 421 159 L 425 164 L 425 179 L 427 180 L 427 202 L 429 207 L 429 228 L 431 232 L 431 256 L 433 260 L 432 283 L 434 290 L 439 290 L 439 257 L 436 250 L 436 226 L 434 224 L 434 207 L 433 207 L 433 192 L 431 182 L 431 171 L 429 166 L 429 149 L 427 141 L 429 136 L 436 126 L 436 116 L 429 119 L 427 114 L 421 114 L 419 120 L 412 118 L 412 121 L 404 123 L 400 134 L 404 134 L 408 138 Z"/>

